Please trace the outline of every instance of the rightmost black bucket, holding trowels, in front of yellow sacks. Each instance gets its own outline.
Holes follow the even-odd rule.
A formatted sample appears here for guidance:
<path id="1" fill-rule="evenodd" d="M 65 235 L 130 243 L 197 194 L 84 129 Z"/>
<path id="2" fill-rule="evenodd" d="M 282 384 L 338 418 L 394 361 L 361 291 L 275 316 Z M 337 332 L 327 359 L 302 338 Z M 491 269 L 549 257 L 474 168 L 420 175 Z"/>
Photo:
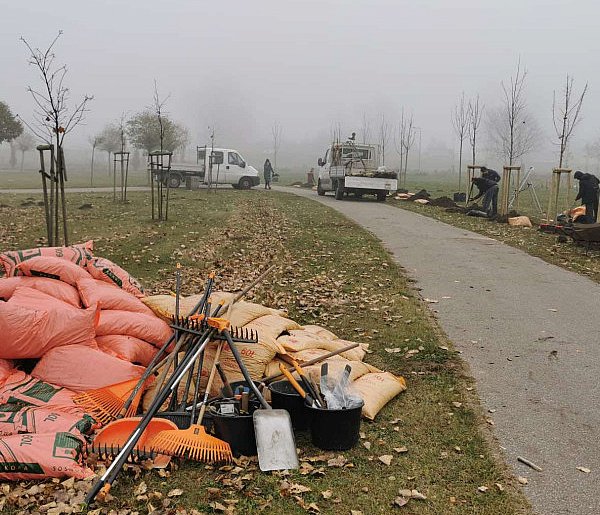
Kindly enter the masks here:
<path id="1" fill-rule="evenodd" d="M 364 402 L 349 409 L 328 410 L 306 405 L 310 412 L 310 438 L 325 451 L 345 451 L 358 443 Z"/>

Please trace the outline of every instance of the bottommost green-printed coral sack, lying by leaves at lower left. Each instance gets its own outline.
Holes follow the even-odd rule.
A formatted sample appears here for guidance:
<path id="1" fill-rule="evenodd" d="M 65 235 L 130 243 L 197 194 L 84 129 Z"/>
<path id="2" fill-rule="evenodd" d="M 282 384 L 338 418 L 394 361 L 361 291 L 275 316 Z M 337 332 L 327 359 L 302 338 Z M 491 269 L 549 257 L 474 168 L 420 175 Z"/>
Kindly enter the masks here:
<path id="1" fill-rule="evenodd" d="M 83 441 L 71 433 L 24 434 L 0 438 L 0 479 L 45 477 L 85 479 L 93 472 L 81 465 Z"/>

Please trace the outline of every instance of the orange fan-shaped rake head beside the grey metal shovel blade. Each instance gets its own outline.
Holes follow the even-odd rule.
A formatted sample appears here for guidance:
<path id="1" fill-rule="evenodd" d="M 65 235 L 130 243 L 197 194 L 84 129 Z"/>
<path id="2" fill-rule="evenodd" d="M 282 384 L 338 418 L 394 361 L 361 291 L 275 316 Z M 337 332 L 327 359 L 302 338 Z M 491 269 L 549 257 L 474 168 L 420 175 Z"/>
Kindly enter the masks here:
<path id="1" fill-rule="evenodd" d="M 229 444 L 207 434 L 204 426 L 198 424 L 188 429 L 161 431 L 147 443 L 156 452 L 194 461 L 228 463 L 233 459 Z"/>

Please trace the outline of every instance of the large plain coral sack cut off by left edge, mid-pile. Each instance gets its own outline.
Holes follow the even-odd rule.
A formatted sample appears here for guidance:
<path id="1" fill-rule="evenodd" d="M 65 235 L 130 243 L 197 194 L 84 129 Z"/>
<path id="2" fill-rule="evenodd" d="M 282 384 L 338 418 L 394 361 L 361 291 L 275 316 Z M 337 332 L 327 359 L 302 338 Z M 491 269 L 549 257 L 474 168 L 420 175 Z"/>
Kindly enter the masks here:
<path id="1" fill-rule="evenodd" d="M 0 358 L 41 358 L 75 343 L 96 347 L 95 307 L 78 309 L 32 288 L 18 287 L 0 302 Z"/>

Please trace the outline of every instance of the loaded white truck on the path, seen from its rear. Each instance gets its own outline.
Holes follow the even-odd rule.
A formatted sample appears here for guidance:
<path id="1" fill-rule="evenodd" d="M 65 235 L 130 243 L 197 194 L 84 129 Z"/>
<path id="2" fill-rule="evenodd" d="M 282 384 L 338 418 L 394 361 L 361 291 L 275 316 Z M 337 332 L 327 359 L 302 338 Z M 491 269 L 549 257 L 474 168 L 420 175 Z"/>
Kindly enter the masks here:
<path id="1" fill-rule="evenodd" d="M 379 165 L 379 146 L 355 143 L 332 143 L 323 158 L 319 158 L 317 193 L 328 191 L 337 200 L 352 194 L 357 198 L 375 195 L 385 201 L 389 192 L 398 189 L 398 174 Z"/>

